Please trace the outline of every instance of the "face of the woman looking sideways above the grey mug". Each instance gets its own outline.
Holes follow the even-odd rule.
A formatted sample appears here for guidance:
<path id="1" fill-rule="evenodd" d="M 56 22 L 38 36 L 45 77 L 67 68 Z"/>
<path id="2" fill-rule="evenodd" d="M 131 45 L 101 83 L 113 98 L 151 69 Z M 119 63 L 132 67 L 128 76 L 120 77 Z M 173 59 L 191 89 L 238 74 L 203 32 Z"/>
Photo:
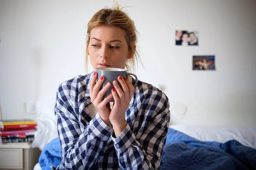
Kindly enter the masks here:
<path id="1" fill-rule="evenodd" d="M 131 58 L 125 31 L 115 26 L 99 26 L 90 34 L 88 55 L 93 69 L 99 67 L 125 68 Z"/>

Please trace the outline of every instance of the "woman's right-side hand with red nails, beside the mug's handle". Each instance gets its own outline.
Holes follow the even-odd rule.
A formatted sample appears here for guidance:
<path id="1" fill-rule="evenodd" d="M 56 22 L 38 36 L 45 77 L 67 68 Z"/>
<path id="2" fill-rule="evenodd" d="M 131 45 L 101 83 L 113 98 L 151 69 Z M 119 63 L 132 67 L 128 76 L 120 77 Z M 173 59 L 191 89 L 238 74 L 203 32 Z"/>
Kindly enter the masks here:
<path id="1" fill-rule="evenodd" d="M 109 115 L 116 137 L 119 136 L 127 125 L 127 122 L 125 121 L 125 112 L 131 101 L 132 95 L 134 94 L 134 86 L 127 78 L 123 79 L 119 76 L 117 79 L 121 84 L 122 89 L 116 81 L 113 81 L 115 88 L 112 89 L 114 105 Z"/>

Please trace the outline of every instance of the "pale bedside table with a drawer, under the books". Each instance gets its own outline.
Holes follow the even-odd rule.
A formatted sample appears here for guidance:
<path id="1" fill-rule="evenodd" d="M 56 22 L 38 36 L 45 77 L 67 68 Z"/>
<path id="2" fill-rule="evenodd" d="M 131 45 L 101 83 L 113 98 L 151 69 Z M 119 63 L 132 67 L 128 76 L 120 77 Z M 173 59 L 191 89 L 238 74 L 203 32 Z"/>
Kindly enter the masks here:
<path id="1" fill-rule="evenodd" d="M 41 150 L 30 143 L 0 144 L 0 169 L 33 170 Z"/>

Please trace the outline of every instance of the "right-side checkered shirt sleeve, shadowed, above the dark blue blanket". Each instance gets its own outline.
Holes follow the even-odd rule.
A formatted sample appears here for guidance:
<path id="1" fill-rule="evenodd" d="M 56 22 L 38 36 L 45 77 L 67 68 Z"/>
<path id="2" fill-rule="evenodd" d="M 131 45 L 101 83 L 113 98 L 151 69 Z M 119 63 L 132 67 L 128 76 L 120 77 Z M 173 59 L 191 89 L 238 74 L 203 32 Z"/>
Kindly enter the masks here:
<path id="1" fill-rule="evenodd" d="M 137 134 L 139 138 L 134 135 L 130 124 L 116 138 L 111 135 L 121 169 L 160 170 L 170 111 L 168 98 L 165 95 L 159 101 L 158 98 L 145 100 L 143 106 L 149 109 L 140 108 L 143 123 Z"/>

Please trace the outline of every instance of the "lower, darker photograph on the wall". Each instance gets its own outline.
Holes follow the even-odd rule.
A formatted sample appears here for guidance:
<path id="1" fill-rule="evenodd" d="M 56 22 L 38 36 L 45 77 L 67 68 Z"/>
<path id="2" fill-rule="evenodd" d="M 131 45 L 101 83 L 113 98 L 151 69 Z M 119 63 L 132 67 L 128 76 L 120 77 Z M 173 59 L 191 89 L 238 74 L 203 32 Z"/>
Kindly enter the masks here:
<path id="1" fill-rule="evenodd" d="M 193 56 L 193 70 L 215 70 L 215 56 Z"/>

